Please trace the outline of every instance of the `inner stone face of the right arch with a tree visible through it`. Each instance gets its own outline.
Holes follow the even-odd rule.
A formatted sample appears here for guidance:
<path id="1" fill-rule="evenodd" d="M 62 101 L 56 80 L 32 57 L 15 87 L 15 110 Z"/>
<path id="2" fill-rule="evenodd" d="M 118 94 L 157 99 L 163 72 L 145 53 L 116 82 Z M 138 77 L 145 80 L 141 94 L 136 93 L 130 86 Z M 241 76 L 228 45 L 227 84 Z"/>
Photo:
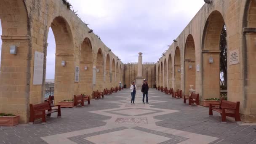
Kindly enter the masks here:
<path id="1" fill-rule="evenodd" d="M 205 23 L 202 39 L 202 96 L 203 99 L 220 96 L 220 36 L 224 18 L 213 11 Z M 213 63 L 209 61 L 213 60 Z"/>

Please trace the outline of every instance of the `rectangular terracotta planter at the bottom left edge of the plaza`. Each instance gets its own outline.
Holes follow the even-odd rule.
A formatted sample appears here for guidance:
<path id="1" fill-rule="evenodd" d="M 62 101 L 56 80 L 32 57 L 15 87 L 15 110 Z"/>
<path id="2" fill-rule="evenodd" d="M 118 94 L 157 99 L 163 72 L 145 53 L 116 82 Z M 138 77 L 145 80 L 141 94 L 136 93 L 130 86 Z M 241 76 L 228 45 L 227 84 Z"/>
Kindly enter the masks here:
<path id="1" fill-rule="evenodd" d="M 19 124 L 19 115 L 0 113 L 0 126 L 13 126 Z"/>

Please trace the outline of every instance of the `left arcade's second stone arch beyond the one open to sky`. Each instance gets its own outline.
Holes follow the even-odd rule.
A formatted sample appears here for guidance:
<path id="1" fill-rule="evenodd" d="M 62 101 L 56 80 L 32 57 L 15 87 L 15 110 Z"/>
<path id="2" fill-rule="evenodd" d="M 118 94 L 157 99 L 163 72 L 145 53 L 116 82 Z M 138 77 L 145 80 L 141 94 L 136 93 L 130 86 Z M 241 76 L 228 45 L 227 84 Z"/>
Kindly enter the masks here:
<path id="1" fill-rule="evenodd" d="M 103 81 L 104 81 L 104 58 L 101 48 L 97 52 L 96 58 L 96 91 L 103 91 Z"/>

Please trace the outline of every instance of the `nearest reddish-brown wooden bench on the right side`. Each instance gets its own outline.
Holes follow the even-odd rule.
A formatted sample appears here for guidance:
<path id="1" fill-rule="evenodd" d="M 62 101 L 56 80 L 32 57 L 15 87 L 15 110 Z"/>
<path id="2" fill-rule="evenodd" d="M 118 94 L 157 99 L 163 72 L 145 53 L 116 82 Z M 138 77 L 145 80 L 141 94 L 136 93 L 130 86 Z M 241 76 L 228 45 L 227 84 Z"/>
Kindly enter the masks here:
<path id="1" fill-rule="evenodd" d="M 213 106 L 219 106 L 219 107 L 213 107 Z M 220 104 L 211 104 L 209 106 L 209 116 L 213 115 L 213 110 L 216 112 L 219 112 L 221 114 L 221 123 L 227 123 L 226 116 L 227 117 L 235 117 L 235 121 L 237 123 L 242 123 L 239 115 L 239 107 L 240 102 L 231 102 L 226 101 L 224 99 L 221 99 Z"/>

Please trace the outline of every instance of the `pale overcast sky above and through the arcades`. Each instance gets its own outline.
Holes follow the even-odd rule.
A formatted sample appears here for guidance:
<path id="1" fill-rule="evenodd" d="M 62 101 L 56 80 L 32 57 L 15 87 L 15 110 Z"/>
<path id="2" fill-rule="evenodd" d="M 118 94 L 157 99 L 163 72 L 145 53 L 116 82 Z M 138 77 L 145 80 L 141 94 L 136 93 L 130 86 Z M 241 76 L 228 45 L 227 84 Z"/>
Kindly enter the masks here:
<path id="1" fill-rule="evenodd" d="M 203 6 L 203 0 L 69 0 L 74 11 L 123 63 L 156 62 Z M 0 42 L 1 43 L 1 42 Z M 55 41 L 48 36 L 46 79 L 54 79 Z"/>

